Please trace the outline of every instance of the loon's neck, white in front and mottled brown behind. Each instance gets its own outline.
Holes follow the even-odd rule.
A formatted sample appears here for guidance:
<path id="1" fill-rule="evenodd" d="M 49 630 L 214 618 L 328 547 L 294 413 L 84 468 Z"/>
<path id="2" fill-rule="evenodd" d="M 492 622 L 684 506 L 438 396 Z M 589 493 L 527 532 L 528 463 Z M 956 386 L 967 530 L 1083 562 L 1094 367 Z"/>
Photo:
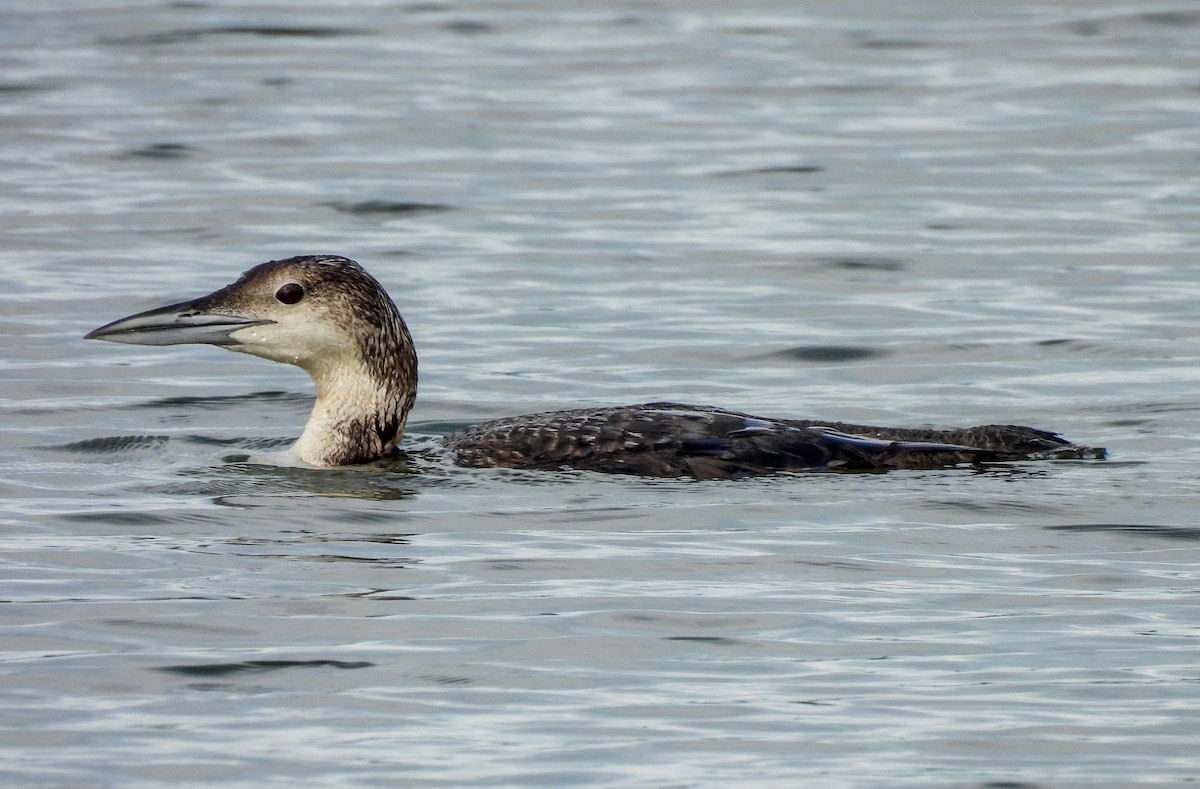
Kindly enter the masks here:
<path id="1" fill-rule="evenodd" d="M 416 399 L 416 355 L 409 350 L 400 356 L 390 375 L 354 359 L 306 367 L 317 402 L 292 447 L 295 457 L 308 465 L 334 466 L 391 452 Z"/>

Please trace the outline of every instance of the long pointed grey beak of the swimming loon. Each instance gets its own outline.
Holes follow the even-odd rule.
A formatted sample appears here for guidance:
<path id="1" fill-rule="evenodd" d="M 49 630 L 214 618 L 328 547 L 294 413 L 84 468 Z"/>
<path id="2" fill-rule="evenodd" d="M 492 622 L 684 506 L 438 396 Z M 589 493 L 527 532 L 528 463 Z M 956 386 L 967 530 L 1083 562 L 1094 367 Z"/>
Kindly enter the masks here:
<path id="1" fill-rule="evenodd" d="M 204 296 L 139 312 L 90 331 L 84 335 L 84 339 L 104 339 L 110 343 L 128 343 L 131 345 L 181 345 L 184 343 L 236 345 L 238 341 L 229 335 L 239 329 L 275 323 L 260 318 L 244 318 L 212 312 L 205 305 L 210 300 L 211 296 Z"/>

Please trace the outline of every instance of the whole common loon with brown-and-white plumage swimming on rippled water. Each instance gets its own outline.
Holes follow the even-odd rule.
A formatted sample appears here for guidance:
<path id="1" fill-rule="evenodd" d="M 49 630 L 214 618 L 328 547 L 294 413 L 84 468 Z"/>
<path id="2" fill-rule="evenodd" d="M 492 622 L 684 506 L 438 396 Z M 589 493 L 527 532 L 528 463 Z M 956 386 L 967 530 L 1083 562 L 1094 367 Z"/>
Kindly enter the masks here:
<path id="1" fill-rule="evenodd" d="M 312 466 L 390 456 L 416 398 L 408 326 L 383 287 L 337 255 L 271 260 L 206 296 L 122 318 L 86 338 L 204 343 L 301 367 L 317 386 L 317 402 L 292 451 Z M 439 452 L 464 466 L 696 478 L 1104 456 L 1012 424 L 883 428 L 679 403 L 500 418 L 442 438 Z"/>

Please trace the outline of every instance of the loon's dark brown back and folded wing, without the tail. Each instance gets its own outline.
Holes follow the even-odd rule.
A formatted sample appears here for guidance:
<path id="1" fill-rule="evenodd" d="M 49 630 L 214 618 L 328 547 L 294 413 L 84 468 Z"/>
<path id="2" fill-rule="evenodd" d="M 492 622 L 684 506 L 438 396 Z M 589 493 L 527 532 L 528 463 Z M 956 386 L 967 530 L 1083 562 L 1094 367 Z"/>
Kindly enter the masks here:
<path id="1" fill-rule="evenodd" d="M 774 471 L 937 468 L 1006 459 L 944 441 L 857 435 L 676 403 L 530 414 L 446 436 L 469 466 L 581 469 L 704 480 Z"/>

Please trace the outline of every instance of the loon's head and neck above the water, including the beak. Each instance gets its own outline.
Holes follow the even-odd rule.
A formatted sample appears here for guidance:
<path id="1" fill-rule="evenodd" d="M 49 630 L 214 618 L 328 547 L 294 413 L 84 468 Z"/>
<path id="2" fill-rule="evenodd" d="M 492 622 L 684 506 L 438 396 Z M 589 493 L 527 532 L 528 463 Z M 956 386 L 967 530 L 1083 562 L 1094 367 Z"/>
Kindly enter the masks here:
<path id="1" fill-rule="evenodd" d="M 271 260 L 206 296 L 115 320 L 85 338 L 203 343 L 304 368 L 317 403 L 293 451 L 310 465 L 386 454 L 416 397 L 416 353 L 396 305 L 359 264 L 337 255 Z"/>

